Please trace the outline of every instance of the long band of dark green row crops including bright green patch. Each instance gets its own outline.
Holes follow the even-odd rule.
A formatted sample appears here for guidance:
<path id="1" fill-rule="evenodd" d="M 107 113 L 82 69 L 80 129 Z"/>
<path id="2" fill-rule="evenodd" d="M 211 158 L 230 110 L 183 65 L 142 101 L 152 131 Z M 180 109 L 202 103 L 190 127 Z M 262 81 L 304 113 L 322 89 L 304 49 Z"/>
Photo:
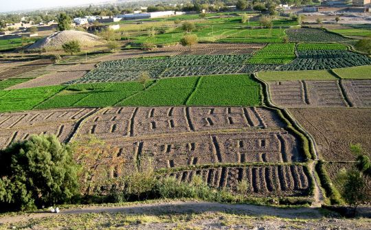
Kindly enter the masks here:
<path id="1" fill-rule="evenodd" d="M 317 50 L 317 47 L 321 49 Z M 190 55 L 161 58 L 131 58 L 102 62 L 83 78 L 67 84 L 89 82 L 124 82 L 137 80 L 147 72 L 150 78 L 205 76 L 259 71 L 335 69 L 370 65 L 367 56 L 346 50 L 340 44 L 269 44 L 254 56 L 250 55 Z M 296 57 L 296 58 L 295 58 Z"/>

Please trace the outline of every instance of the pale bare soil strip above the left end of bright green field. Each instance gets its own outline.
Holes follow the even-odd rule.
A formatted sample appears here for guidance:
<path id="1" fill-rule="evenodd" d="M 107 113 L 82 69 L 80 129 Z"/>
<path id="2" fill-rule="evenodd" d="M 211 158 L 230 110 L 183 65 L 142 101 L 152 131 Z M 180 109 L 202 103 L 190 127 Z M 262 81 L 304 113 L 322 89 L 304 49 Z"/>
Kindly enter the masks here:
<path id="1" fill-rule="evenodd" d="M 16 84 L 9 89 L 23 89 L 23 88 L 32 88 L 32 87 L 46 87 L 56 84 L 63 84 L 70 80 L 77 80 L 85 76 L 87 71 L 63 71 L 63 72 L 54 72 L 49 73 L 45 76 L 41 76 L 35 78 L 34 80 L 30 80 L 28 82 L 24 82 L 21 84 Z"/>

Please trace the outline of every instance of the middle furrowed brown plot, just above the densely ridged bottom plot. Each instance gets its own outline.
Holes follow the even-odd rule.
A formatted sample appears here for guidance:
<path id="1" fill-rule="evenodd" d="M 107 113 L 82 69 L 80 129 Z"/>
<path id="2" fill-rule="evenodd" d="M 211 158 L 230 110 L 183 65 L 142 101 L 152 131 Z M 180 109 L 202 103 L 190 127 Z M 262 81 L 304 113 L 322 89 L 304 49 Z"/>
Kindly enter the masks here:
<path id="1" fill-rule="evenodd" d="M 119 148 L 120 156 L 131 168 L 147 159 L 153 161 L 155 169 L 214 163 L 283 163 L 303 159 L 295 137 L 284 130 L 164 134 L 107 143 Z"/>

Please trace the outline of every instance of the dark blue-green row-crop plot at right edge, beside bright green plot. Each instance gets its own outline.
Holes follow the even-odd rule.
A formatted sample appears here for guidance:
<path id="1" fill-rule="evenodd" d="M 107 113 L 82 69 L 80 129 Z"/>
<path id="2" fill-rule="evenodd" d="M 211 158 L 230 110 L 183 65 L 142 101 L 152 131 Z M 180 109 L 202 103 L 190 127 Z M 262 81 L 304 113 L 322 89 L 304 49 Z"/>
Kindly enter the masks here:
<path id="1" fill-rule="evenodd" d="M 297 51 L 298 57 L 280 70 L 336 69 L 371 65 L 371 59 L 365 55 L 344 50 L 308 50 Z"/>

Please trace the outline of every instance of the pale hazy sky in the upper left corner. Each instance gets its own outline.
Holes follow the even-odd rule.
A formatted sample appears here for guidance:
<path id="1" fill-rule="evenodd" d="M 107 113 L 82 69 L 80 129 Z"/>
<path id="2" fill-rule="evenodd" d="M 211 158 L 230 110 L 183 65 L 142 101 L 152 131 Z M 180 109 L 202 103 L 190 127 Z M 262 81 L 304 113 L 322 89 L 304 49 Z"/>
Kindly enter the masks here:
<path id="1" fill-rule="evenodd" d="M 99 3 L 104 0 L 0 0 L 0 12 L 12 10 L 33 10 L 65 5 Z"/>

